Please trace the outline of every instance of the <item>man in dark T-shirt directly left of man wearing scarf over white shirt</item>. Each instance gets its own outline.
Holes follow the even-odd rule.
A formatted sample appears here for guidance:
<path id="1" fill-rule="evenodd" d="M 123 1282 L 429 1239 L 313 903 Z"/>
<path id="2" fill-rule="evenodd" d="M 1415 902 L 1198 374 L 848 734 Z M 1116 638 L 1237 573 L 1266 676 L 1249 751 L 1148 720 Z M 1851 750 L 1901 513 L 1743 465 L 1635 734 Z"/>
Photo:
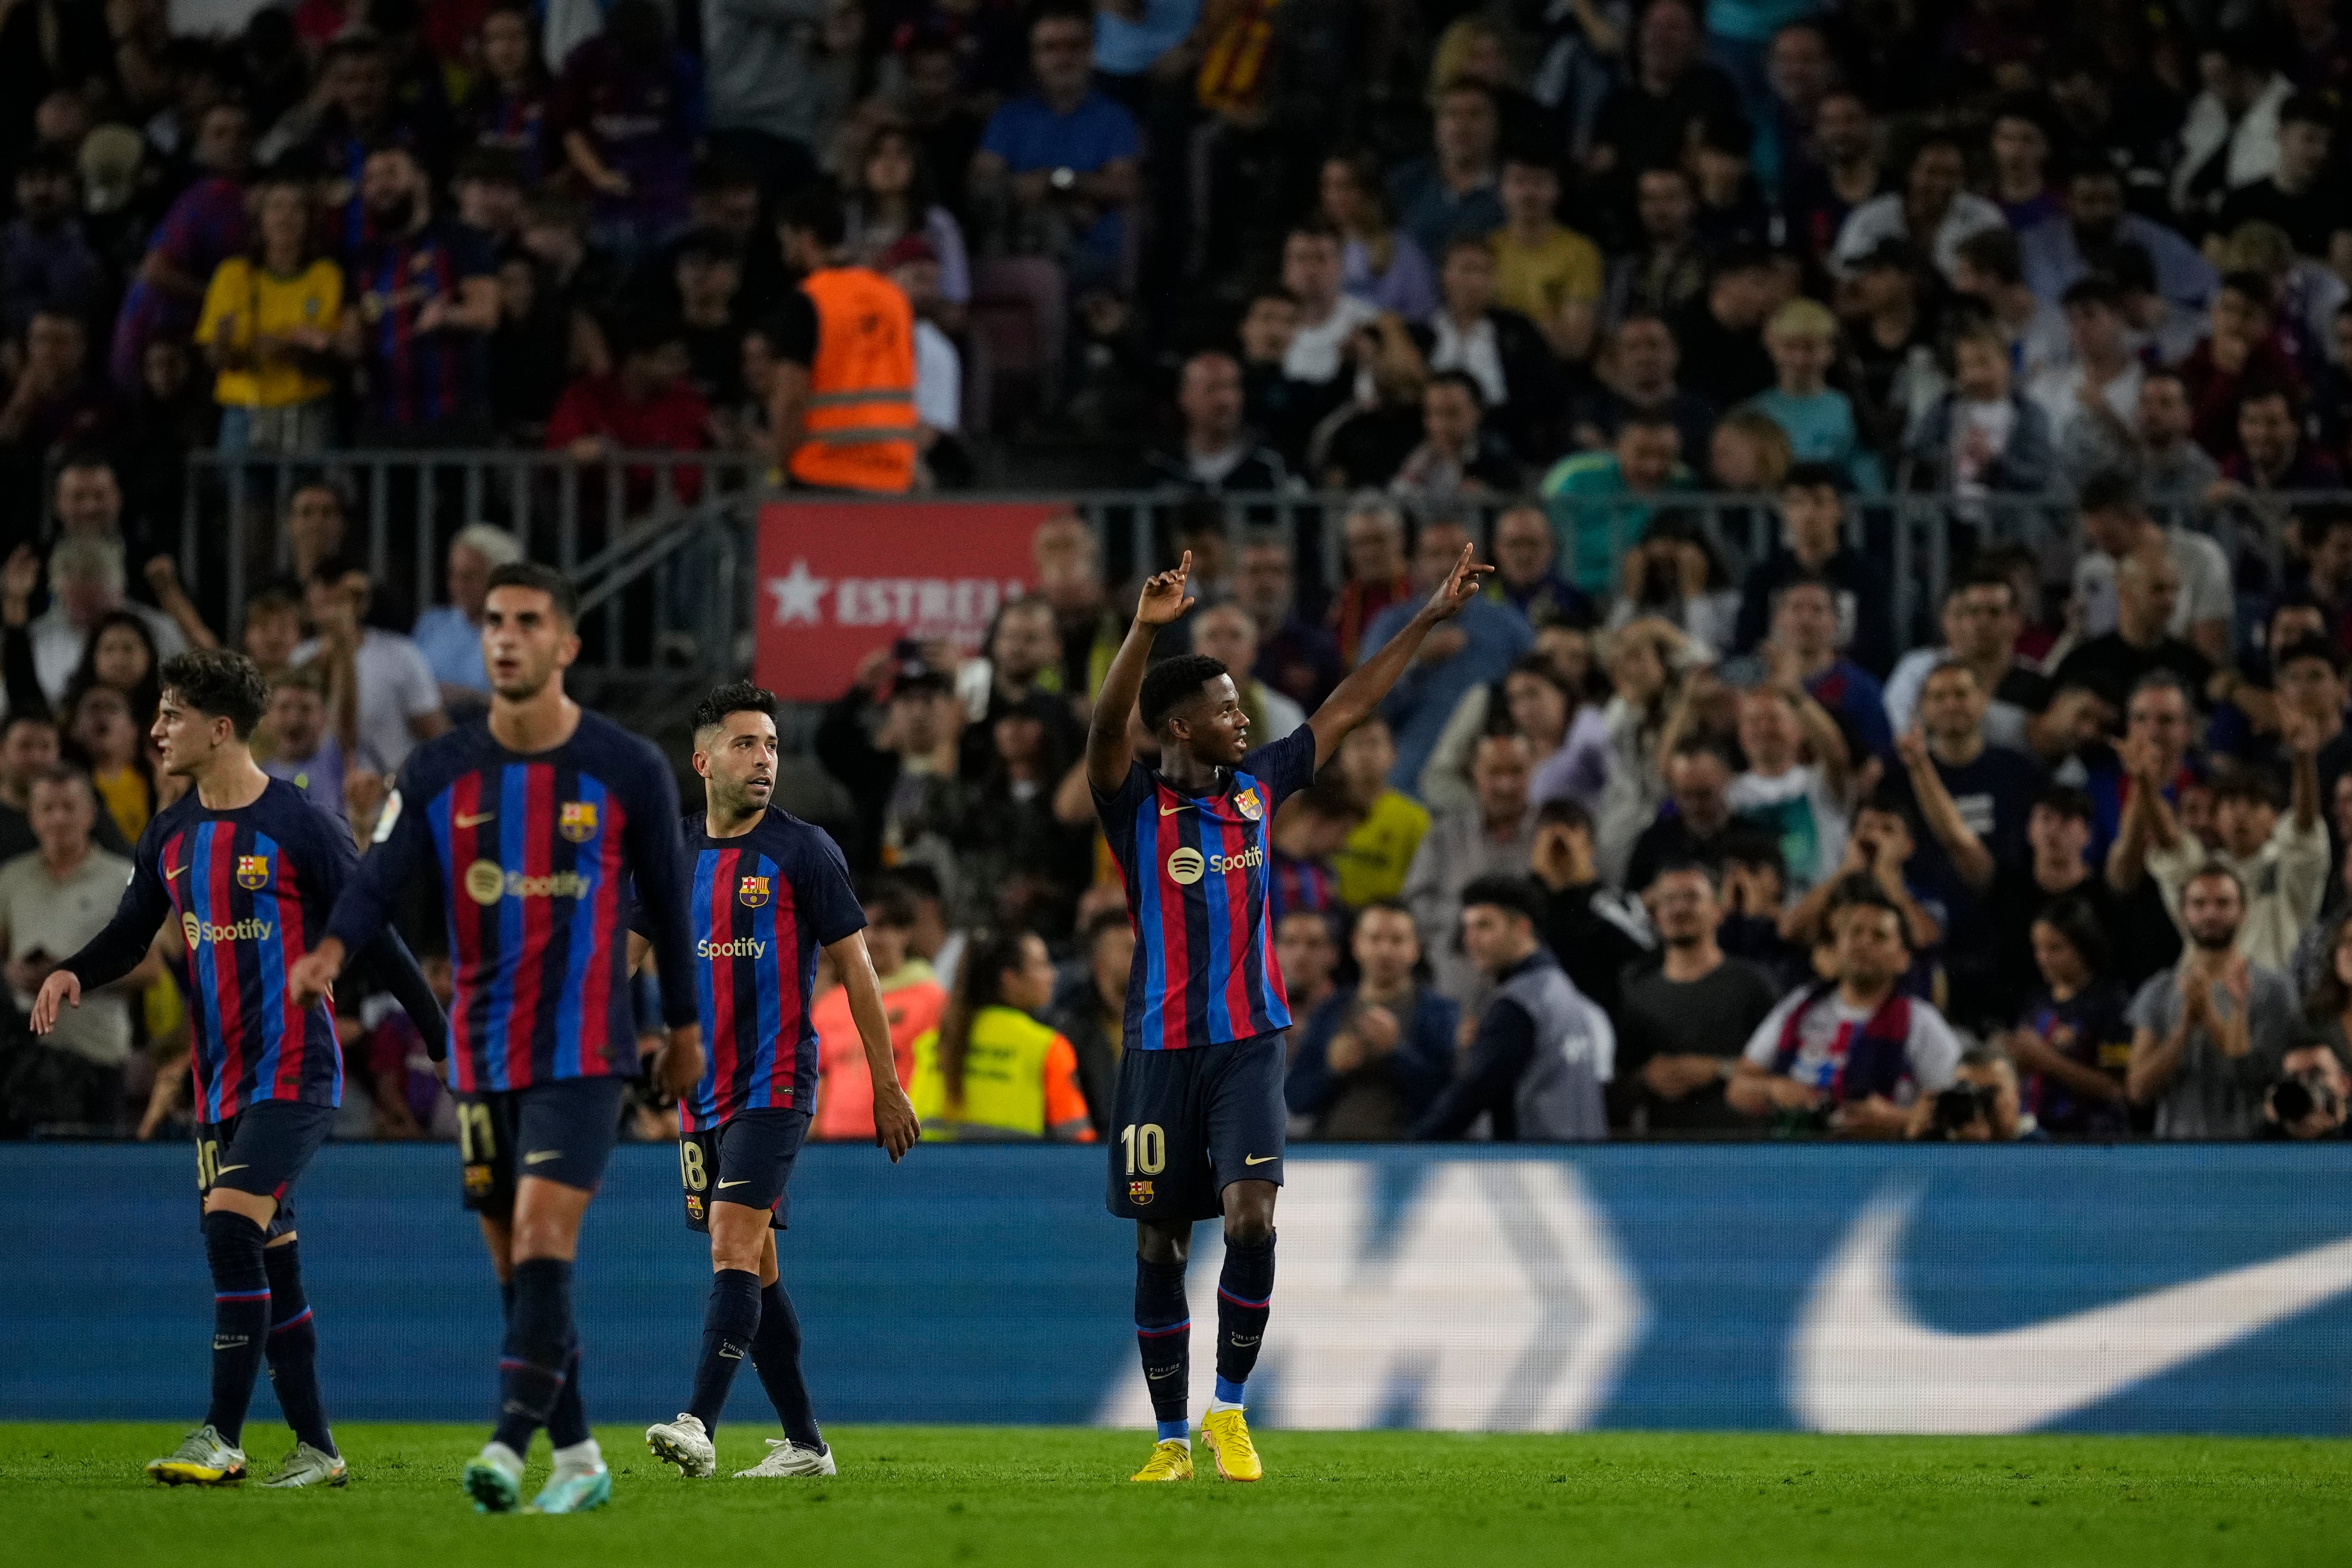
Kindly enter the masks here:
<path id="1" fill-rule="evenodd" d="M 1618 1020 L 1613 1126 L 1646 1133 L 1729 1131 L 1748 1119 L 1724 1103 L 1740 1046 L 1780 990 L 1745 959 L 1724 957 L 1722 877 L 1698 863 L 1665 865 L 1646 889 L 1658 924 L 1658 969 L 1628 980 Z"/>

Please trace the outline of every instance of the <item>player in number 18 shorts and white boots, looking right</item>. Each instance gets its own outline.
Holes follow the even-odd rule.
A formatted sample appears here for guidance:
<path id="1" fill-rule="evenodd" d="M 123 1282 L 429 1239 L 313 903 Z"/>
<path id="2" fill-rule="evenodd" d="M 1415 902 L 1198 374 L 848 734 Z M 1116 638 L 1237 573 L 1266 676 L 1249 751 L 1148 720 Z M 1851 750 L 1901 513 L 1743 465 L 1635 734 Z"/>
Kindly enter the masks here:
<path id="1" fill-rule="evenodd" d="M 866 912 L 842 851 L 823 832 L 769 804 L 776 788 L 776 698 L 736 682 L 694 710 L 694 771 L 708 804 L 684 823 L 682 870 L 694 924 L 696 990 L 710 1065 L 677 1107 L 677 1175 L 687 1229 L 710 1234 L 710 1305 L 694 1394 L 677 1420 L 644 1429 L 644 1446 L 680 1474 L 717 1469 L 713 1432 L 743 1354 L 783 1420 L 767 1460 L 736 1476 L 830 1476 L 800 1380 L 800 1316 L 776 1276 L 776 1232 L 793 1157 L 809 1135 L 816 1095 L 816 950 L 849 990 L 866 1067 L 875 1081 L 875 1143 L 896 1161 L 920 1128 L 891 1063 L 882 983 L 866 957 Z M 649 943 L 630 938 L 630 954 Z"/>

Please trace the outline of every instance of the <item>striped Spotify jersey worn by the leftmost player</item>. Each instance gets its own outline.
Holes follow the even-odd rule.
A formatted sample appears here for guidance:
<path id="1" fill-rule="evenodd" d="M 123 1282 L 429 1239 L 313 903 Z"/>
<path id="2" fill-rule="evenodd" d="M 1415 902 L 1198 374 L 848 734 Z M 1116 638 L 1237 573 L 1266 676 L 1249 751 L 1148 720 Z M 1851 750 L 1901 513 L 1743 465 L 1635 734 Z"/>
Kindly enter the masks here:
<path id="1" fill-rule="evenodd" d="M 280 778 L 233 811 L 191 790 L 139 835 L 115 917 L 66 969 L 85 990 L 118 980 L 172 917 L 188 947 L 198 1119 L 226 1121 L 259 1100 L 341 1105 L 334 1016 L 325 1001 L 296 1009 L 287 973 L 325 936 L 358 865 L 350 830 Z M 376 952 L 419 1032 L 437 1039 L 440 1009 L 414 959 L 397 938 Z"/>

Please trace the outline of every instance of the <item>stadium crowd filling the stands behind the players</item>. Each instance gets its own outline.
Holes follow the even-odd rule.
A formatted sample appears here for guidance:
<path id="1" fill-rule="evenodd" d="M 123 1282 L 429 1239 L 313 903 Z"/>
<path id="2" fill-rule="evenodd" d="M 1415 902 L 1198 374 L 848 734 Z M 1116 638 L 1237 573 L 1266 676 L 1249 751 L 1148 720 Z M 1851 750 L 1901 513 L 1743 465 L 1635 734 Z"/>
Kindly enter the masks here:
<path id="1" fill-rule="evenodd" d="M 226 12 L 0 0 L 19 1006 L 172 790 L 160 656 L 223 639 L 172 569 L 181 458 L 325 475 L 226 609 L 270 769 L 365 835 L 480 708 L 482 578 L 527 541 L 466 517 L 442 595 L 376 583 L 332 451 L 781 456 L 816 357 L 788 230 L 830 186 L 917 320 L 915 484 L 1051 435 L 1061 475 L 1188 498 L 1162 646 L 1247 677 L 1256 741 L 1465 538 L 1501 567 L 1272 825 L 1303 1135 L 1566 1135 L 1519 1117 L 1538 1046 L 1628 1135 L 2343 1133 L 2340 5 Z M 995 397 L 1011 362 L 1049 395 Z M 1247 501 L 1284 491 L 1352 491 L 1338 581 Z M 1771 538 L 1738 571 L 1705 494 Z M 1924 625 L 1896 494 L 1959 562 Z M 1077 748 L 1131 588 L 1075 517 L 1035 557 L 978 658 L 868 661 L 807 797 L 906 1072 L 962 978 L 1063 1041 L 1049 1103 L 1087 1114 L 1047 1131 L 1101 1133 L 1131 938 Z M 1486 992 L 1545 952 L 1583 1013 L 1531 1044 Z M 348 1131 L 445 1131 L 397 1011 L 346 1001 Z M 863 1135 L 828 1004 L 818 1135 Z M 0 1124 L 153 1131 L 176 1009 L 158 966 L 12 1039 Z"/>

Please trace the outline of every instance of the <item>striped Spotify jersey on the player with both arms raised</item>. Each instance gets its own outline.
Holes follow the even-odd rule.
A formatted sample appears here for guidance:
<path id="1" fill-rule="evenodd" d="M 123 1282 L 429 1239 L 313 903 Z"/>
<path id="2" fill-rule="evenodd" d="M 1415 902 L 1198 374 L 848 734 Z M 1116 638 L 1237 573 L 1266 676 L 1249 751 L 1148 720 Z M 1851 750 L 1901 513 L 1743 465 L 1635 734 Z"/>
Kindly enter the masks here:
<path id="1" fill-rule="evenodd" d="M 1127 971 L 1127 1048 L 1183 1051 L 1291 1023 L 1275 961 L 1268 825 L 1315 778 L 1301 726 L 1242 757 L 1214 795 L 1185 795 L 1141 762 L 1094 811 L 1127 882 L 1136 959 Z"/>

